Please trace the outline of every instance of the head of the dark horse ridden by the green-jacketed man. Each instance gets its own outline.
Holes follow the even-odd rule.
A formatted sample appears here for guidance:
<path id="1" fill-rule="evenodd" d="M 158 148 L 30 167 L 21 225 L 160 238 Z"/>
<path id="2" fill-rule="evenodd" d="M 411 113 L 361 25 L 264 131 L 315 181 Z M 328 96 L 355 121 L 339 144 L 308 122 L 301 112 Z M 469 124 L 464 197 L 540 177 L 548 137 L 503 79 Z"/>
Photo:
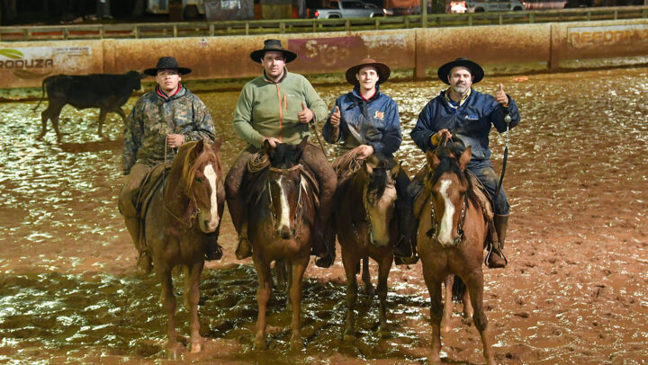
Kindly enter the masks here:
<path id="1" fill-rule="evenodd" d="M 302 191 L 306 189 L 300 160 L 307 141 L 308 136 L 296 146 L 280 143 L 273 148 L 267 142 L 264 145 L 270 162 L 266 182 L 268 208 L 274 221 L 275 235 L 283 239 L 299 234 L 295 229 L 302 218 Z"/>

